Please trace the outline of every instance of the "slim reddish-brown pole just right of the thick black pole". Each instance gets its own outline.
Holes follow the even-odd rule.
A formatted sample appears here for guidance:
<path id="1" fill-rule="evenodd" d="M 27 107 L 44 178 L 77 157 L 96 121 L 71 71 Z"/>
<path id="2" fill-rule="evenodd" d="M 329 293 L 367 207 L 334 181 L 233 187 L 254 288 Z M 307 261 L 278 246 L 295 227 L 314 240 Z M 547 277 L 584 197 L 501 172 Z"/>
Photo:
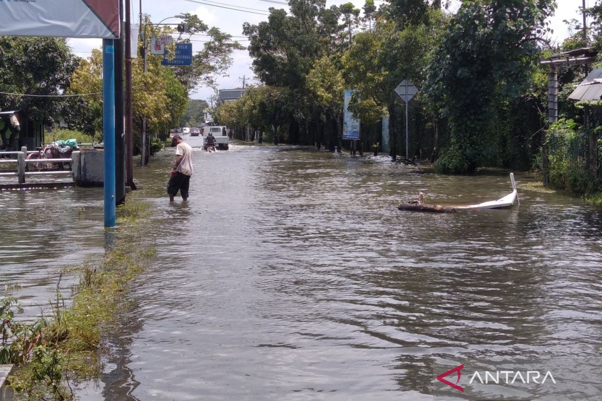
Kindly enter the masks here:
<path id="1" fill-rule="evenodd" d="M 135 191 L 134 142 L 132 133 L 132 15 L 129 1 L 125 2 L 125 182 Z"/>

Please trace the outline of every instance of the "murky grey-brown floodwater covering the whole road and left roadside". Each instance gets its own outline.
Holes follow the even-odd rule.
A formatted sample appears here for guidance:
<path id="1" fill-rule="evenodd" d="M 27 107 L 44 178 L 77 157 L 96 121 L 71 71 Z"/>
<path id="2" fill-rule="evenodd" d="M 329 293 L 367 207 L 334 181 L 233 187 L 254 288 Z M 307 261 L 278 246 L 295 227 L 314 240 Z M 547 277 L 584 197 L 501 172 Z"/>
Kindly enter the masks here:
<path id="1" fill-rule="evenodd" d="M 137 170 L 158 259 L 82 399 L 430 401 L 433 357 L 600 355 L 599 209 L 520 191 L 513 209 L 400 212 L 421 189 L 497 199 L 509 177 L 244 145 L 196 149 L 190 199 L 169 204 L 173 159 Z M 57 264 L 102 253 L 101 198 L 0 192 L 3 282 L 52 293 Z"/>

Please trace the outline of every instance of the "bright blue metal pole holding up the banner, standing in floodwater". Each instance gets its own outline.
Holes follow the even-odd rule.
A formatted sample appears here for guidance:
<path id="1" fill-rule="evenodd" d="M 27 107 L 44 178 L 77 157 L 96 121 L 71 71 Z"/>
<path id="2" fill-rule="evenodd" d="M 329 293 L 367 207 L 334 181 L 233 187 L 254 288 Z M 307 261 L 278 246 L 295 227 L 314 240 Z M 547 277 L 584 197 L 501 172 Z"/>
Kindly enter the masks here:
<path id="1" fill-rule="evenodd" d="M 105 227 L 115 227 L 115 56 L 113 43 L 113 39 L 102 40 Z"/>

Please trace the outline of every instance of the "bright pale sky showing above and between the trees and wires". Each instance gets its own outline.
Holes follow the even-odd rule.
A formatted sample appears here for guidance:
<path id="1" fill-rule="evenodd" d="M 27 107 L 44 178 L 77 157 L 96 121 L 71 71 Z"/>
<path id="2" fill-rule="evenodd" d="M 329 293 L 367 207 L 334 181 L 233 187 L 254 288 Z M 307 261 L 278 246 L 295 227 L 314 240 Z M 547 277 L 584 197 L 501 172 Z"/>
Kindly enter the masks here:
<path id="1" fill-rule="evenodd" d="M 134 22 L 138 21 L 138 13 L 140 13 L 140 1 L 132 1 L 132 15 Z M 349 0 L 326 0 L 326 7 L 330 5 L 338 5 L 346 3 Z M 242 27 L 244 22 L 258 23 L 267 20 L 268 8 L 285 8 L 288 7 L 281 2 L 285 0 L 141 0 L 142 11 L 145 14 L 151 15 L 153 22 L 175 16 L 179 13 L 196 14 L 199 18 L 209 26 L 217 26 L 221 31 L 231 34 L 233 39 L 239 40 L 243 46 L 247 46 L 249 41 L 243 37 Z M 364 0 L 352 0 L 353 4 L 358 8 L 362 8 Z M 460 5 L 460 0 L 451 0 L 450 10 L 456 10 Z M 586 7 L 594 5 L 595 0 L 586 0 Z M 375 4 L 382 4 L 382 0 L 375 0 Z M 579 7 L 582 5 L 582 0 L 557 0 L 557 9 L 554 16 L 550 19 L 550 27 L 554 30 L 551 35 L 551 40 L 562 42 L 568 37 L 569 32 L 563 20 L 579 19 L 582 17 L 579 14 Z M 234 6 L 244 8 L 245 11 L 229 10 L 222 7 Z M 177 23 L 178 19 L 167 19 L 164 23 Z M 202 37 L 193 37 L 193 52 L 195 47 L 200 50 L 203 43 L 196 40 L 203 40 Z M 101 39 L 70 39 L 69 44 L 72 51 L 80 57 L 88 57 L 93 48 L 99 49 L 102 45 Z M 219 89 L 229 89 L 241 87 L 243 85 L 243 76 L 246 78 L 247 84 L 259 84 L 253 76 L 251 69 L 252 59 L 246 50 L 235 51 L 232 54 L 232 66 L 227 72 L 227 76 L 217 79 Z M 208 99 L 213 96 L 214 90 L 208 87 L 197 87 L 196 91 L 190 93 L 192 99 Z"/>

